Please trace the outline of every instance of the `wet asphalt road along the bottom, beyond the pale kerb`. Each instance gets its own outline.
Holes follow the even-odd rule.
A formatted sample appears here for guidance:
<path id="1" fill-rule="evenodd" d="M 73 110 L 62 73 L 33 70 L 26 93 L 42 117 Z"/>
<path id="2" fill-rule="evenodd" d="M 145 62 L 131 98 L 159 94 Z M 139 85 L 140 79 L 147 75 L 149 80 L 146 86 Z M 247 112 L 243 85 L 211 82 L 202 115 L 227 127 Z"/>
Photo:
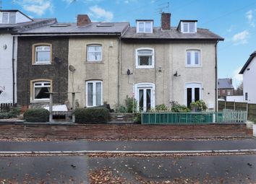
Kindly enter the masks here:
<path id="1" fill-rule="evenodd" d="M 127 182 L 189 179 L 205 183 L 256 183 L 256 155 L 192 157 L 0 157 L 0 182 L 90 183 L 105 169 Z"/>

